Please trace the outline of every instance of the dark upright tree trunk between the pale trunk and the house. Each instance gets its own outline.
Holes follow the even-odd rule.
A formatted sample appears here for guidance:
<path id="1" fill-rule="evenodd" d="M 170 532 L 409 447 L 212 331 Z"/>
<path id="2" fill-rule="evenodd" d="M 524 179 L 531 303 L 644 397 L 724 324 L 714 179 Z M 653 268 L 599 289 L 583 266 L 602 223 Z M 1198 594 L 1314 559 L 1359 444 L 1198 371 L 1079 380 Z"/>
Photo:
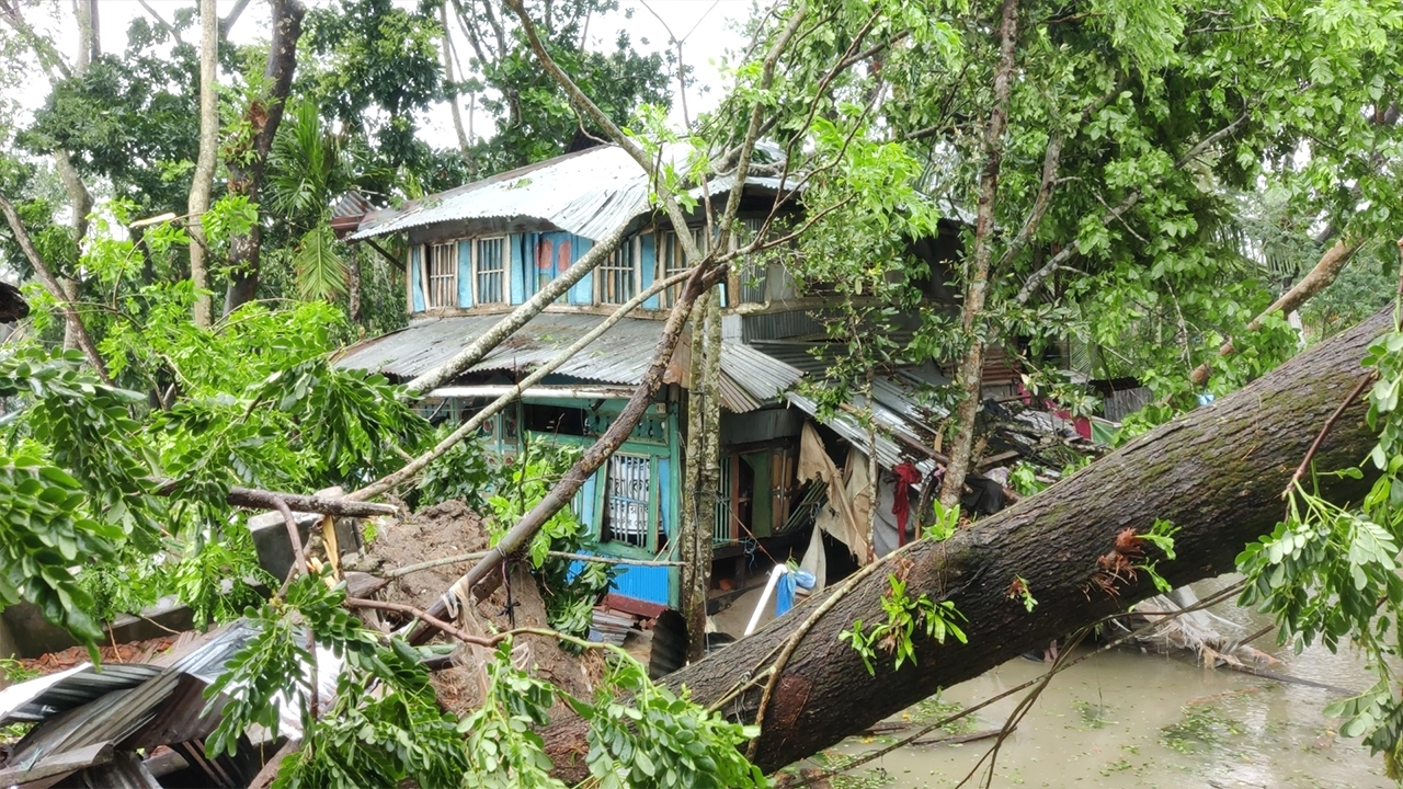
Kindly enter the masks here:
<path id="1" fill-rule="evenodd" d="M 268 152 L 272 150 L 272 139 L 282 124 L 292 74 L 297 69 L 297 39 L 302 38 L 302 18 L 306 13 L 307 8 L 299 0 L 272 0 L 272 41 L 268 44 L 268 62 L 264 67 L 268 93 L 250 101 L 244 112 L 247 136 L 224 161 L 229 167 L 230 194 L 244 195 L 250 202 L 258 202 Z M 229 264 L 234 274 L 224 292 L 224 314 L 257 296 L 258 247 L 257 222 L 247 233 L 229 240 Z"/>

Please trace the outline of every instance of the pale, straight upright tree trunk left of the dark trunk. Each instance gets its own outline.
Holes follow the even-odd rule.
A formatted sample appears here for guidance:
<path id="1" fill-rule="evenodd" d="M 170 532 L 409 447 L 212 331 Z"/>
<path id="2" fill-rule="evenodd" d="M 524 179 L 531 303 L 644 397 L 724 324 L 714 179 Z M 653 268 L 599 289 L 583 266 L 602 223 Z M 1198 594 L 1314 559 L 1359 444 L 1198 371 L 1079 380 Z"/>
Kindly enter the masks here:
<path id="1" fill-rule="evenodd" d="M 209 295 L 209 264 L 205 260 L 205 212 L 215 188 L 215 157 L 219 154 L 219 17 L 215 0 L 199 0 L 199 157 L 189 185 L 189 278 L 195 284 L 195 326 L 213 323 Z"/>

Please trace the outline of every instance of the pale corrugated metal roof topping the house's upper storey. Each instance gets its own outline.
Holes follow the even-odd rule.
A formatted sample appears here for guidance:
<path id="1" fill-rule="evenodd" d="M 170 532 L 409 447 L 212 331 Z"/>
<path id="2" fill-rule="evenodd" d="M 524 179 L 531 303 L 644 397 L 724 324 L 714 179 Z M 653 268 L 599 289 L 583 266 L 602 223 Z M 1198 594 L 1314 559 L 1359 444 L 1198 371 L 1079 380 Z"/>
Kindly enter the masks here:
<path id="1" fill-rule="evenodd" d="M 686 146 L 672 146 L 664 156 L 685 161 L 687 150 Z M 711 194 L 730 190 L 734 181 L 734 175 L 717 178 L 710 185 Z M 767 190 L 781 187 L 780 180 L 773 177 L 746 178 L 746 184 Z M 793 188 L 797 180 L 788 178 L 784 185 Z M 607 145 L 370 213 L 351 239 L 370 239 L 439 222 L 518 218 L 539 219 L 585 239 L 600 239 L 645 213 L 651 191 L 643 167 L 622 147 Z"/>

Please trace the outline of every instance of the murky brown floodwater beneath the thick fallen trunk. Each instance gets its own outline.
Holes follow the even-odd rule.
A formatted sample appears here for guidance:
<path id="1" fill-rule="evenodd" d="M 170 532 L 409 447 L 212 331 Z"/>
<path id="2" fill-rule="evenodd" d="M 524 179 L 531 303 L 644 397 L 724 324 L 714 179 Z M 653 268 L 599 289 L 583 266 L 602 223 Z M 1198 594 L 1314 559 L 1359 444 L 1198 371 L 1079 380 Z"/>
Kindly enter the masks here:
<path id="1" fill-rule="evenodd" d="M 1221 585 L 1209 584 L 1200 594 Z M 1244 633 L 1263 623 L 1230 604 L 1219 605 L 1215 612 L 1243 623 Z M 1274 647 L 1274 636 L 1256 646 L 1282 661 L 1271 667 L 1282 674 L 1357 691 L 1372 685 L 1362 661 L 1345 649 L 1331 654 L 1317 647 L 1292 656 Z M 934 722 L 943 713 L 972 706 L 1042 672 L 1041 664 L 1013 660 L 892 720 Z M 972 722 L 955 724 L 951 733 L 1000 727 L 1021 696 L 1016 694 L 979 710 Z M 1000 748 L 992 785 L 1393 786 L 1383 776 L 1382 760 L 1371 757 L 1357 740 L 1337 737 L 1338 722 L 1320 713 L 1334 698 L 1338 694 L 1322 688 L 1204 670 L 1184 656 L 1104 653 L 1054 678 Z M 871 751 L 892 740 L 891 736 L 853 738 L 826 757 Z M 854 769 L 835 782 L 835 788 L 954 786 L 992 743 L 991 738 L 962 745 L 905 747 Z"/>

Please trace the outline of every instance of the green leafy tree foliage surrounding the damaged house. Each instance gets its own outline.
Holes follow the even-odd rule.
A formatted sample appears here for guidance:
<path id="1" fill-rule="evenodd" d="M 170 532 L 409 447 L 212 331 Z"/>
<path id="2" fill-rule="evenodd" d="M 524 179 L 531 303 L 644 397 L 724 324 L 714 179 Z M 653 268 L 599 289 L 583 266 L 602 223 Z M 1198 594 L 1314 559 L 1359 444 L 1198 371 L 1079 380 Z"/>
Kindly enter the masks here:
<path id="1" fill-rule="evenodd" d="M 584 771 L 599 785 L 763 785 L 758 744 L 769 750 L 756 764 L 784 761 L 773 757 L 776 729 L 765 729 L 767 699 L 783 661 L 812 654 L 800 650 L 811 636 L 801 626 L 769 644 L 783 657 L 759 684 L 745 679 L 749 706 L 727 717 L 724 699 L 706 708 L 654 685 L 617 650 L 605 650 L 609 688 L 581 698 L 512 664 L 512 640 L 526 633 L 463 639 L 448 625 L 436 632 L 497 656 L 481 709 L 457 720 L 434 703 L 422 665 L 431 651 L 410 633 L 366 626 L 344 584 L 306 564 L 286 580 L 258 574 L 236 489 L 271 500 L 330 486 L 414 504 L 470 498 L 492 511 L 497 542 L 466 588 L 484 597 L 501 560 L 522 560 L 570 590 L 551 604 L 563 642 L 599 649 L 582 640 L 582 612 L 606 574 L 574 574 L 551 555 L 588 541 L 565 504 L 630 434 L 689 327 L 693 378 L 707 386 L 703 359 L 720 364 L 721 288 L 755 265 L 786 267 L 842 347 L 826 378 L 805 383 L 825 409 L 853 390 L 871 394 L 888 365 L 953 371 L 953 385 L 930 393 L 948 413 L 932 448 L 947 458 L 943 504 L 933 505 L 944 517 L 978 462 L 991 348 L 1019 359 L 1028 389 L 1078 413 L 1094 409 L 1087 378 L 1150 387 L 1155 402 L 1122 425 L 1127 439 L 1397 298 L 1396 1 L 781 1 L 755 11 L 728 55 L 723 100 L 686 128 L 668 121 L 673 91 L 694 87 L 685 51 L 644 49 L 627 29 L 637 11 L 610 0 L 268 7 L 269 34 L 253 44 L 230 44 L 240 3 L 220 20 L 215 53 L 184 38 L 196 8 L 137 17 L 125 48 L 104 52 L 86 0 L 60 28 L 77 31 L 76 49 L 39 24 L 66 8 L 0 0 L 10 66 L 0 72 L 39 66 L 48 81 L 32 112 L 0 108 L 0 274 L 27 279 L 32 307 L 22 331 L 0 343 L 0 606 L 34 602 L 90 647 L 112 616 L 163 594 L 202 622 L 248 616 L 260 635 L 216 682 L 231 702 L 210 752 L 236 748 L 250 724 L 275 724 L 274 696 L 303 675 L 314 646 L 344 656 L 334 709 L 299 691 L 310 747 L 283 762 L 281 786 L 563 786 L 540 734 L 557 702 L 584 722 Z M 620 29 L 599 32 L 613 24 Z M 217 55 L 217 86 L 203 86 L 217 87 L 217 164 L 213 199 L 189 209 L 194 163 L 210 145 L 201 138 L 202 55 Z M 456 145 L 422 126 L 445 102 Z M 658 321 L 648 375 L 599 444 L 497 468 L 462 442 L 469 430 L 424 420 L 414 407 L 422 386 L 333 364 L 345 343 L 405 320 L 403 264 L 340 241 L 330 225 L 338 201 L 394 205 L 595 142 L 623 147 L 650 174 L 659 218 L 686 226 L 687 211 L 700 211 L 723 241 L 703 250 L 679 234 L 694 265 Z M 690 154 L 673 160 L 664 149 Z M 693 192 L 751 174 L 803 185 L 780 188 L 759 233 L 737 222 L 739 201 L 713 205 Z M 803 213 L 780 211 L 788 198 Z M 951 257 L 915 254 L 941 233 L 960 237 Z M 574 274 L 622 236 L 602 239 Z M 196 292 L 192 244 L 206 256 L 209 291 Z M 1312 275 L 1323 289 L 1303 298 L 1319 295 L 1281 309 L 1282 292 Z M 930 306 L 936 292 L 948 296 L 940 307 Z M 223 299 L 222 319 L 194 320 L 202 293 Z M 526 320 L 557 295 L 543 291 L 504 320 Z M 1298 307 L 1303 330 L 1288 314 Z M 913 338 L 897 343 L 895 321 L 912 313 Z M 483 358 L 511 334 L 506 323 L 438 378 Z M 1317 487 L 1309 460 L 1320 441 L 1295 437 L 1310 449 L 1287 512 L 1271 533 L 1250 535 L 1260 539 L 1239 566 L 1244 599 L 1271 611 L 1284 637 L 1365 647 L 1379 685 L 1334 712 L 1399 775 L 1403 705 L 1389 665 L 1403 611 L 1393 423 L 1403 336 L 1351 337 L 1351 348 L 1368 348 L 1368 378 L 1323 430 L 1362 399 L 1378 442 L 1361 468 L 1336 452 L 1336 468 L 1317 470 L 1368 476 L 1374 487 L 1352 503 L 1338 494 L 1347 486 Z M 692 424 L 704 432 L 709 418 L 697 409 Z M 714 469 L 696 473 L 689 496 L 709 512 Z M 492 489 L 519 496 L 492 501 Z M 1155 524 L 1135 546 L 1167 562 L 1174 525 Z M 1218 556 L 1243 546 L 1191 548 Z M 936 550 L 926 542 L 906 556 Z M 890 576 L 870 584 L 888 621 L 868 625 L 898 636 L 853 625 L 861 663 L 925 660 L 957 650 L 965 633 L 978 643 L 988 622 L 957 625 L 955 594 L 939 573 L 906 590 L 897 556 L 873 566 Z M 271 599 L 258 584 L 275 590 Z M 443 611 L 417 621 L 431 622 L 425 614 Z M 901 672 L 913 670 L 895 663 L 891 674 L 906 682 Z M 383 692 L 368 692 L 372 684 Z"/>

